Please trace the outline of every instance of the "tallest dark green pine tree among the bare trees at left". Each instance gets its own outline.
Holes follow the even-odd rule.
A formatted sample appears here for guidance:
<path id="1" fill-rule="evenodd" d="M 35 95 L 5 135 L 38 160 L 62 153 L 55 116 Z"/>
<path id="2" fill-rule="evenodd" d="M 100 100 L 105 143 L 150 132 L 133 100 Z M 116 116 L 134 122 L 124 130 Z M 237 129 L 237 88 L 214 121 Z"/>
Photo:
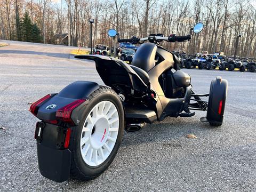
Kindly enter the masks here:
<path id="1" fill-rule="evenodd" d="M 22 22 L 21 22 L 22 41 L 32 42 L 32 39 L 31 39 L 32 30 L 33 30 L 33 24 L 28 15 L 28 12 L 26 11 L 24 14 L 24 17 L 22 18 Z"/>

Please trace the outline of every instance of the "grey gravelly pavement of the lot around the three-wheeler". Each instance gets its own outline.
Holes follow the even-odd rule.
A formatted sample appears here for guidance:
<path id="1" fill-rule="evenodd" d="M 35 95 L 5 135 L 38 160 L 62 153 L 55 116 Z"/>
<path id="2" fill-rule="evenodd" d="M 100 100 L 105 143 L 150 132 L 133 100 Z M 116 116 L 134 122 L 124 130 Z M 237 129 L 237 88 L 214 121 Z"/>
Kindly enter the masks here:
<path id="1" fill-rule="evenodd" d="M 9 43 L 0 48 L 1 191 L 256 191 L 256 73 L 183 69 L 197 93 L 209 92 L 215 76 L 228 80 L 221 127 L 199 122 L 201 111 L 166 118 L 124 133 L 114 162 L 97 179 L 57 183 L 39 173 L 37 119 L 28 103 L 77 80 L 102 81 L 93 62 L 69 59 L 68 47 Z"/>

